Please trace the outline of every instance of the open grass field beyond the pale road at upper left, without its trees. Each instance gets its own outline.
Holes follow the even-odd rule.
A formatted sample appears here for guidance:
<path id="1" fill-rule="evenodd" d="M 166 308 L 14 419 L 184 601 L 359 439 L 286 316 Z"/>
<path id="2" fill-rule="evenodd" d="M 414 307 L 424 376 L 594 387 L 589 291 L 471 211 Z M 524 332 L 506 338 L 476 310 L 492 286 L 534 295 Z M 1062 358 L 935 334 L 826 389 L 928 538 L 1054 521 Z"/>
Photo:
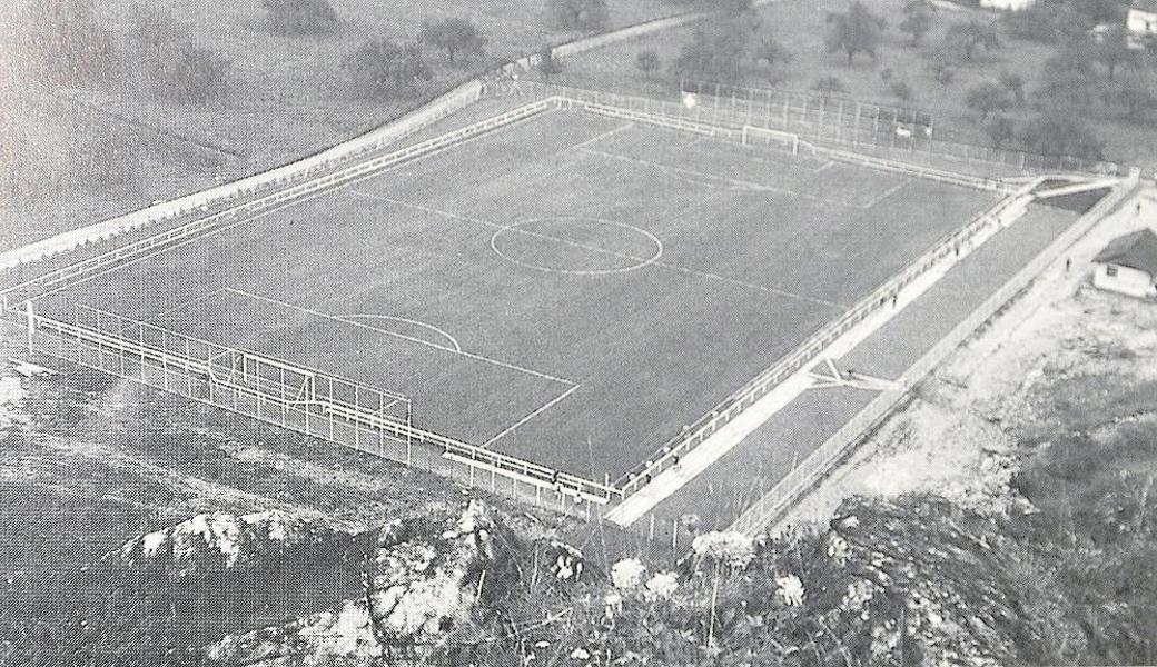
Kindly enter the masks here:
<path id="1" fill-rule="evenodd" d="M 576 32 L 552 27 L 545 0 L 479 5 L 418 0 L 382 5 L 334 0 L 334 30 L 316 37 L 273 34 L 260 3 L 194 0 L 171 9 L 187 38 L 230 60 L 224 94 L 204 104 L 157 96 L 132 71 L 127 16 L 133 0 L 94 3 L 115 35 L 121 64 L 111 82 L 65 89 L 34 81 L 17 28 L 0 37 L 0 168 L 20 181 L 0 197 L 0 250 L 74 229 L 183 193 L 283 164 L 366 132 L 421 105 L 473 73 Z M 617 3 L 611 27 L 680 10 L 663 0 Z M 434 80 L 413 95 L 355 95 L 342 60 L 369 39 L 418 38 L 421 23 L 473 21 L 487 39 L 482 58 L 451 65 L 426 49 Z"/>

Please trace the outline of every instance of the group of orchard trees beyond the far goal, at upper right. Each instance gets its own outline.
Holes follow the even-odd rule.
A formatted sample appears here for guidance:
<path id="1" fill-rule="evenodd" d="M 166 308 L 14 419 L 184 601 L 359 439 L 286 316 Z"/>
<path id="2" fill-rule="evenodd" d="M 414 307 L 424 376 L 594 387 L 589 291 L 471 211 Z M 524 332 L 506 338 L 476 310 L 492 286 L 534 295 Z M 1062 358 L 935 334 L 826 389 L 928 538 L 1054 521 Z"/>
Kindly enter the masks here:
<path id="1" fill-rule="evenodd" d="M 977 128 L 994 146 L 1047 155 L 1100 157 L 1104 142 L 1091 121 L 1112 119 L 1143 125 L 1157 114 L 1152 79 L 1141 75 L 1157 59 L 1157 43 L 1138 49 L 1123 24 L 1119 0 L 1039 2 L 1000 18 L 968 13 L 950 18 L 929 0 L 907 0 L 894 16 L 883 16 L 860 0 L 825 15 L 824 50 L 846 67 L 865 59 L 878 64 L 885 44 L 919 55 L 928 76 L 944 95 L 961 75 L 990 62 L 1009 39 L 1033 39 L 1056 46 L 1036 76 L 998 72 L 958 94 Z M 893 30 L 898 39 L 889 42 Z M 938 35 L 938 37 L 937 37 Z M 743 2 L 729 3 L 715 18 L 697 27 L 678 52 L 664 62 L 655 50 L 635 54 L 634 66 L 650 80 L 666 71 L 676 77 L 778 84 L 791 74 L 796 54 L 784 47 L 764 18 Z M 884 91 L 901 103 L 916 89 L 892 68 L 879 71 Z M 812 83 L 821 95 L 847 92 L 835 74 Z M 1019 112 L 1023 120 L 1014 119 Z"/>

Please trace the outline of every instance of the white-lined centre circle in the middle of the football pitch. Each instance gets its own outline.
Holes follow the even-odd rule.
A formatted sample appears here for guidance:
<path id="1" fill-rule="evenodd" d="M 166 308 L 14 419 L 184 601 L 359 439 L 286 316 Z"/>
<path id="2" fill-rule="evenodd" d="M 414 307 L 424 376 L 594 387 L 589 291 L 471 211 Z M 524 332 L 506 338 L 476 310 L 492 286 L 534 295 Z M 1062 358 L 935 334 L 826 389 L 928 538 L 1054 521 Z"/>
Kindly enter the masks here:
<path id="1" fill-rule="evenodd" d="M 663 242 L 646 229 L 598 217 L 523 220 L 491 236 L 491 250 L 510 264 L 562 275 L 639 270 L 663 257 Z"/>

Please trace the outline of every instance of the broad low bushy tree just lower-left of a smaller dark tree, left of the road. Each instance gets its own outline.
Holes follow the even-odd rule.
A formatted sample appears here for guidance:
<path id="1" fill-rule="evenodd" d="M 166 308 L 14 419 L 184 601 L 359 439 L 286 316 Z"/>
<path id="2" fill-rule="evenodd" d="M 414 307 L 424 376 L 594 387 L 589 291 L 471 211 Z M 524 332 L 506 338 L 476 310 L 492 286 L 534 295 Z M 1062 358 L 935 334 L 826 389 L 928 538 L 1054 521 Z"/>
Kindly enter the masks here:
<path id="1" fill-rule="evenodd" d="M 398 45 L 389 39 L 367 42 L 341 62 L 354 89 L 367 97 L 411 95 L 434 72 L 418 44 Z"/>

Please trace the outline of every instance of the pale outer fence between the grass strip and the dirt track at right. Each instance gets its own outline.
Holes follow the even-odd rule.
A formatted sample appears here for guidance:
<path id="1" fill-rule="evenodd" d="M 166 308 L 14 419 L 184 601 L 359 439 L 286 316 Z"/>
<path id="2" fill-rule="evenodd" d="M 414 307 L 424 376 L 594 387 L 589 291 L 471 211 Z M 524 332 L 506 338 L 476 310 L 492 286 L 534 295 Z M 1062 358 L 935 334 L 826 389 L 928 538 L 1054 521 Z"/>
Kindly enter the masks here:
<path id="1" fill-rule="evenodd" d="M 1089 209 L 1081 220 L 1048 245 L 1031 262 L 1012 276 L 1001 289 L 979 305 L 964 321 L 918 360 L 905 373 L 904 386 L 887 391 L 874 399 L 823 445 L 801 461 L 759 501 L 747 507 L 731 525 L 732 531 L 756 536 L 773 526 L 793 505 L 819 483 L 849 455 L 872 429 L 879 425 L 899 405 L 911 388 L 938 366 L 956 348 L 988 321 L 1004 304 L 1025 289 L 1045 268 L 1069 246 L 1084 236 L 1135 188 L 1136 175 L 1130 175 L 1118 187 Z"/>

